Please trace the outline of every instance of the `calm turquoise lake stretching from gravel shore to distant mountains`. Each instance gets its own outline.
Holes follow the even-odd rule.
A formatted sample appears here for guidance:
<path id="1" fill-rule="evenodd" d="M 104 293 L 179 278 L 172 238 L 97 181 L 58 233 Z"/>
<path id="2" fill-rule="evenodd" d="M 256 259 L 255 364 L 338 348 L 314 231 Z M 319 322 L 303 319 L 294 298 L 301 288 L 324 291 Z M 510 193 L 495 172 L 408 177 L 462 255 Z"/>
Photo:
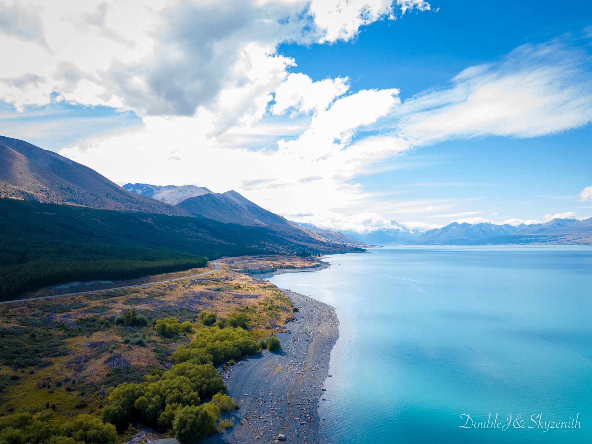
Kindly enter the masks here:
<path id="1" fill-rule="evenodd" d="M 268 279 L 336 308 L 323 442 L 592 442 L 592 247 L 384 247 L 326 260 Z"/>

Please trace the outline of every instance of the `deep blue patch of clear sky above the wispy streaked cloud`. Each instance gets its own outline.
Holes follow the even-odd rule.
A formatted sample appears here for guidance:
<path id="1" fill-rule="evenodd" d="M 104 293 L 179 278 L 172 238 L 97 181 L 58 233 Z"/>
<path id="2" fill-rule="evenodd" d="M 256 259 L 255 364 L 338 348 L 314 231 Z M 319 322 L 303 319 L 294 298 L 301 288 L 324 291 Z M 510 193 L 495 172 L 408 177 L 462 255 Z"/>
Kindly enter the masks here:
<path id="1" fill-rule="evenodd" d="M 398 88 L 401 99 L 448 82 L 472 65 L 496 60 L 525 43 L 542 43 L 592 23 L 592 3 L 438 1 L 432 11 L 363 27 L 353 41 L 282 44 L 314 80 L 348 76 L 352 91 Z M 439 8 L 439 9 L 438 9 Z M 436 11 L 437 9 L 437 11 Z"/>

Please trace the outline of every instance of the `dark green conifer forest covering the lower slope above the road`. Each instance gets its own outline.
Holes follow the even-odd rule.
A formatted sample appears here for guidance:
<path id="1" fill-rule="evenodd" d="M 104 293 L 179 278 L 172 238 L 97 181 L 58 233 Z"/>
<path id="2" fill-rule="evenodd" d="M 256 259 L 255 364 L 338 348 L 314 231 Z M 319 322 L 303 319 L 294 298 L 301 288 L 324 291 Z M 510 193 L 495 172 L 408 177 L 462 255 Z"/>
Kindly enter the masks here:
<path id="1" fill-rule="evenodd" d="M 52 284 L 131 279 L 205 258 L 294 252 L 265 230 L 195 217 L 0 199 L 0 300 Z"/>

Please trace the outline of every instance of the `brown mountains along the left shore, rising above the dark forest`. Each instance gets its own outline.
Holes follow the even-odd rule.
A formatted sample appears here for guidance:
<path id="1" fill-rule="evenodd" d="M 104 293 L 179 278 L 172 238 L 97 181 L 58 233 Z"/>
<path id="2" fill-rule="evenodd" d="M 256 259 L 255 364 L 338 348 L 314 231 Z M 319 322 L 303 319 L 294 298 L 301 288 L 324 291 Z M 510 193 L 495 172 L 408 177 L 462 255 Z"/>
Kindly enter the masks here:
<path id="1" fill-rule="evenodd" d="M 194 185 L 126 184 L 121 187 L 67 157 L 3 136 L 0 136 L 0 197 L 207 218 L 283 237 L 295 249 L 330 252 L 363 246 L 341 233 L 299 227 L 236 191 L 220 194 Z"/>

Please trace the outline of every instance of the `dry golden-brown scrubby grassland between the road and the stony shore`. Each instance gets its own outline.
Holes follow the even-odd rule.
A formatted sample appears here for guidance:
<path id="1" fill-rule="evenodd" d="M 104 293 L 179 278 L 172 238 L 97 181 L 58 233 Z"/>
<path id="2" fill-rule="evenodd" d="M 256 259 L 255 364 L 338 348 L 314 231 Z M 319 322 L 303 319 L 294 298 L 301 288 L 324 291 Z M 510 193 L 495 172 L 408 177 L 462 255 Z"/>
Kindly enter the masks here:
<path id="1" fill-rule="evenodd" d="M 107 387 L 141 381 L 154 367 L 169 368 L 176 347 L 209 328 L 198 317 L 204 310 L 218 318 L 245 313 L 255 340 L 282 331 L 292 318 L 289 298 L 275 285 L 237 270 L 313 262 L 296 256 L 228 258 L 218 260 L 219 271 L 202 278 L 0 305 L 0 414 L 47 406 L 65 417 L 97 412 Z M 149 319 L 147 327 L 115 325 L 114 317 L 131 308 Z M 190 321 L 193 332 L 158 336 L 153 321 L 171 316 Z M 144 345 L 126 343 L 126 337 L 141 337 Z"/>

